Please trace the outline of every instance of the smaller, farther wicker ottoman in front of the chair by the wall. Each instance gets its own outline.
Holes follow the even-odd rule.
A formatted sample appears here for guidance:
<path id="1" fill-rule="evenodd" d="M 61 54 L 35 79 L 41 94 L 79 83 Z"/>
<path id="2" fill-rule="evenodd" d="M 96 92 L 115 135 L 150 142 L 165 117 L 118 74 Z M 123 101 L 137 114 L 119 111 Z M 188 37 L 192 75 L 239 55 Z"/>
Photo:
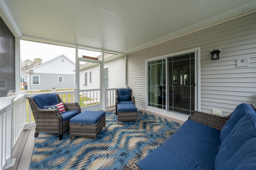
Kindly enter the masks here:
<path id="1" fill-rule="evenodd" d="M 137 107 L 134 104 L 118 104 L 117 116 L 119 121 L 136 121 L 138 123 Z"/>

